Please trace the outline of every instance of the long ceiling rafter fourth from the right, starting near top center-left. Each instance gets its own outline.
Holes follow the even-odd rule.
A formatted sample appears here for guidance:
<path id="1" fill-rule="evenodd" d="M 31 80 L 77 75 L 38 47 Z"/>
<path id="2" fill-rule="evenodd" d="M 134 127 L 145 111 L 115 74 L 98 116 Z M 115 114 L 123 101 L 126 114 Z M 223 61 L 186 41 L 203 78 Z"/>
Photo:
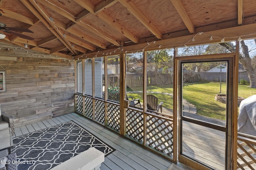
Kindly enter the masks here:
<path id="1" fill-rule="evenodd" d="M 133 41 L 134 43 L 139 42 L 139 38 L 133 35 L 128 29 L 124 26 L 120 25 L 120 23 L 113 20 L 110 16 L 108 16 L 105 12 L 94 13 L 95 6 L 89 2 L 84 0 L 74 0 L 74 2 L 78 3 L 80 6 L 88 10 L 90 13 L 96 15 L 100 20 L 108 23 L 108 25 L 112 26 L 116 31 L 122 33 L 125 37 Z M 104 34 L 103 34 L 104 35 Z"/>

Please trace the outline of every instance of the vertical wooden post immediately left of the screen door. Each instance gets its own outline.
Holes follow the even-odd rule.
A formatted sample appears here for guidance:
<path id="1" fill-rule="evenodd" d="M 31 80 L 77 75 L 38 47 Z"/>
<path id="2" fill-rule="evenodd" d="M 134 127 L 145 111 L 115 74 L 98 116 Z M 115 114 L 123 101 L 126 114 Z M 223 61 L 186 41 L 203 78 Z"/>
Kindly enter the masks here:
<path id="1" fill-rule="evenodd" d="M 173 160 L 177 162 L 177 127 L 178 127 L 178 59 L 176 59 L 178 49 L 174 48 L 174 62 L 173 62 Z M 179 135 L 180 136 L 180 135 Z M 180 139 L 179 139 L 180 141 Z"/>

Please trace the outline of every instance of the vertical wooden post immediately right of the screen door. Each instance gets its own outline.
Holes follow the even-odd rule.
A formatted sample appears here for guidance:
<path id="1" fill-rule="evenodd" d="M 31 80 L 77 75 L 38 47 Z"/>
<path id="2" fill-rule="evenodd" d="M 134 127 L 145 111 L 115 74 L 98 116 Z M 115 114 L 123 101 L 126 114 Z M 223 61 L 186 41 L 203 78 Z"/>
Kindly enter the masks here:
<path id="1" fill-rule="evenodd" d="M 233 107 L 233 140 L 232 140 L 232 169 L 237 169 L 237 123 L 238 123 L 238 67 L 239 67 L 239 47 L 240 42 L 236 41 L 236 55 L 234 59 L 234 89 L 233 89 L 233 101 L 234 101 L 234 107 Z"/>

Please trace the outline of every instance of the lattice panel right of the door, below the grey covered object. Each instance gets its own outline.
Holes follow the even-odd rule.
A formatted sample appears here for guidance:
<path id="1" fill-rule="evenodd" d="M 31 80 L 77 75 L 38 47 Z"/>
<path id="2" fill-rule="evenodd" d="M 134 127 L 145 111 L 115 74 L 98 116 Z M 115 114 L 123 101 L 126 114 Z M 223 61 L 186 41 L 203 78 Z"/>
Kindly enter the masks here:
<path id="1" fill-rule="evenodd" d="M 238 136 L 237 169 L 256 169 L 256 140 Z"/>

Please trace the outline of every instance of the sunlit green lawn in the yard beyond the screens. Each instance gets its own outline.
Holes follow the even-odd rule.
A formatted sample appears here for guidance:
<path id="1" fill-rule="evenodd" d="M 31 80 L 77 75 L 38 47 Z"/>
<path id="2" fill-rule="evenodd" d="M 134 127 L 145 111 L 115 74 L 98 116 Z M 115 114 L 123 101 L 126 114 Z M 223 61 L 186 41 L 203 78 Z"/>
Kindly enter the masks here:
<path id="1" fill-rule="evenodd" d="M 142 91 L 142 87 L 127 88 L 127 91 Z M 173 88 L 170 85 L 162 86 L 148 86 L 147 91 L 150 92 L 166 92 L 173 93 Z M 222 93 L 226 93 L 226 84 L 222 83 Z M 214 117 L 218 119 L 225 119 L 225 104 L 215 101 L 216 94 L 220 94 L 220 83 L 219 82 L 196 82 L 184 84 L 183 87 L 183 98 L 188 102 L 194 104 L 198 111 L 197 114 L 204 115 L 207 117 Z M 249 96 L 256 94 L 256 89 L 249 88 L 248 85 L 238 86 L 238 96 L 243 98 L 248 98 Z M 163 107 L 172 109 L 173 99 L 171 96 L 165 94 L 154 93 L 158 98 L 158 101 L 163 101 Z M 141 102 L 142 93 L 131 93 L 128 96 L 133 96 L 134 98 L 139 98 Z"/>

